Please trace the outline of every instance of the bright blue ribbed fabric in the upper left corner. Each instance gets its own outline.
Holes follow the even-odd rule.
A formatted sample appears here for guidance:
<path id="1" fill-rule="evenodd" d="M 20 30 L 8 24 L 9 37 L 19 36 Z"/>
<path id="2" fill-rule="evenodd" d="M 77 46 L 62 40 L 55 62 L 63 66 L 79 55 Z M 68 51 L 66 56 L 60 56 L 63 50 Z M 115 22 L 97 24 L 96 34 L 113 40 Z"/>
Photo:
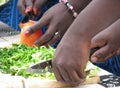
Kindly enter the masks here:
<path id="1" fill-rule="evenodd" d="M 20 30 L 19 22 L 22 16 L 17 9 L 17 0 L 10 0 L 5 6 L 0 10 L 0 21 L 8 24 L 9 26 Z"/>

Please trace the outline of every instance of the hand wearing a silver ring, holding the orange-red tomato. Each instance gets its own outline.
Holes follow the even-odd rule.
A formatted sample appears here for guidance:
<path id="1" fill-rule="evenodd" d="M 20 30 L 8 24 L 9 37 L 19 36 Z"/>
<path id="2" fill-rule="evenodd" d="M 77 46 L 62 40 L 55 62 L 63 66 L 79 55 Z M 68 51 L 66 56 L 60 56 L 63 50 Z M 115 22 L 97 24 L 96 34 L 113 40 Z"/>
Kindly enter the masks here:
<path id="1" fill-rule="evenodd" d="M 69 13 L 66 6 L 59 3 L 46 11 L 42 18 L 35 25 L 30 26 L 26 32 L 31 35 L 38 29 L 47 26 L 46 33 L 35 42 L 35 45 L 51 45 L 64 35 L 73 20 L 74 17 Z"/>

